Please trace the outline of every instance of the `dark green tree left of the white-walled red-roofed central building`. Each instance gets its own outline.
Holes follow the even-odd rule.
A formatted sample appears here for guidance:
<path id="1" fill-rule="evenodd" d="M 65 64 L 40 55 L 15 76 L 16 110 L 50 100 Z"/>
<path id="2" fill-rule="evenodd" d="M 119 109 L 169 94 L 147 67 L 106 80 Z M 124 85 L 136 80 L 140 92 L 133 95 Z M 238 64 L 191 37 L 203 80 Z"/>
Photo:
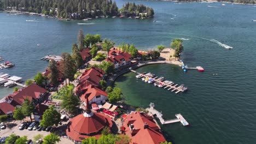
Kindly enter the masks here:
<path id="1" fill-rule="evenodd" d="M 75 114 L 78 111 L 80 105 L 79 98 L 73 94 L 72 91 L 67 91 L 62 95 L 62 109 L 65 109 L 69 113 Z"/>

